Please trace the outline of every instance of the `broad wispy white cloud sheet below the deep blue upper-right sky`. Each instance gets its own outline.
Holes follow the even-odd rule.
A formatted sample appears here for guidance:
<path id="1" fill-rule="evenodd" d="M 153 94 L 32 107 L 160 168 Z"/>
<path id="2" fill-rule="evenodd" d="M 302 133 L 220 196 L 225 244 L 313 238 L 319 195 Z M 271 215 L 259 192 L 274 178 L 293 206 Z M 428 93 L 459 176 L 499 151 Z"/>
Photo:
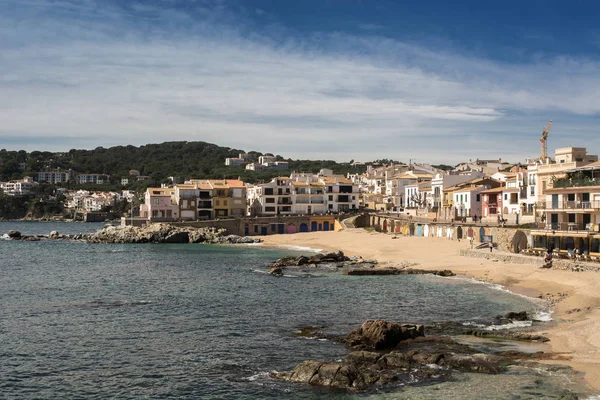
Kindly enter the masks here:
<path id="1" fill-rule="evenodd" d="M 290 157 L 522 159 L 547 119 L 592 126 L 600 114 L 592 60 L 511 65 L 372 35 L 282 38 L 206 2 L 11 5 L 0 0 L 0 141 L 23 148 L 44 136 L 63 149 L 205 140 Z M 519 144 L 503 139 L 512 132 Z M 597 147 L 592 132 L 581 139 Z"/>

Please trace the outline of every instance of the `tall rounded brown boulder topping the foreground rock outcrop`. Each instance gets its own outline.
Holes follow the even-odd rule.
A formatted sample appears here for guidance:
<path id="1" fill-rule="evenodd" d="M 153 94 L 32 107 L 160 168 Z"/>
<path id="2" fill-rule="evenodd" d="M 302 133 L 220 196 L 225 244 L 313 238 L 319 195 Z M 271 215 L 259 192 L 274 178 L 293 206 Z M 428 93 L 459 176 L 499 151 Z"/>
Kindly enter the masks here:
<path id="1" fill-rule="evenodd" d="M 342 340 L 355 349 L 384 350 L 396 347 L 401 341 L 424 336 L 423 325 L 403 325 L 384 320 L 368 320 Z"/>

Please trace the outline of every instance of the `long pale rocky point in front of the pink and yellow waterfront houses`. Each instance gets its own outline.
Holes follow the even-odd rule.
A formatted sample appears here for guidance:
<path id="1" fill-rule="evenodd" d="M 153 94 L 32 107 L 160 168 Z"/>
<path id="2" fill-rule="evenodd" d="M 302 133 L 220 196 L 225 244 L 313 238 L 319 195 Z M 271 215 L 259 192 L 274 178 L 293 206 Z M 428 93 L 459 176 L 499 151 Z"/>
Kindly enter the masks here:
<path id="1" fill-rule="evenodd" d="M 105 226 L 94 233 L 61 235 L 56 231 L 48 236 L 26 236 L 18 231 L 4 235 L 11 240 L 82 240 L 88 243 L 209 243 L 242 244 L 258 243 L 260 239 L 227 235 L 223 229 L 180 227 L 171 224 L 149 224 L 144 227 Z"/>

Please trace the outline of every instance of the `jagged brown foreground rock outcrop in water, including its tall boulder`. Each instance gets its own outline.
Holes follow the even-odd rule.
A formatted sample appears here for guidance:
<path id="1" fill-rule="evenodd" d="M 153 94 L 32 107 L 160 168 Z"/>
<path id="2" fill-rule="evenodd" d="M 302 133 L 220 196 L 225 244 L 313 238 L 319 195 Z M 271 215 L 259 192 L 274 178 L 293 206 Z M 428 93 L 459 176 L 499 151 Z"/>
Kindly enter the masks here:
<path id="1" fill-rule="evenodd" d="M 311 327 L 313 328 L 313 327 Z M 433 383 L 454 372 L 497 374 L 509 365 L 530 362 L 531 355 L 486 354 L 447 336 L 425 336 L 423 325 L 369 320 L 345 337 L 334 339 L 353 351 L 339 361 L 306 360 L 277 379 L 349 390 L 382 385 Z M 536 360 L 551 355 L 536 353 Z"/>

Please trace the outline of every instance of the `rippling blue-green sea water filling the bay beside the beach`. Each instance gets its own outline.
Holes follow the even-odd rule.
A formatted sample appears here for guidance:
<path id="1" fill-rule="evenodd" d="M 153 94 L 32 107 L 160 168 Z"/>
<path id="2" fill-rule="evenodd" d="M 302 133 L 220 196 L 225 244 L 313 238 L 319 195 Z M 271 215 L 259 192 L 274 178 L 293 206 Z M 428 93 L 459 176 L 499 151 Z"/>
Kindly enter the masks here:
<path id="1" fill-rule="evenodd" d="M 0 222 L 0 235 L 75 234 L 102 225 Z M 589 395 L 581 376 L 560 368 L 455 374 L 451 381 L 358 393 L 273 379 L 274 371 L 304 360 L 348 353 L 339 343 L 299 336 L 307 325 L 343 335 L 374 318 L 485 324 L 523 310 L 542 329 L 553 323 L 540 300 L 461 277 L 266 273 L 269 262 L 309 251 L 0 240 L 0 398 L 558 399 L 567 389 Z"/>

